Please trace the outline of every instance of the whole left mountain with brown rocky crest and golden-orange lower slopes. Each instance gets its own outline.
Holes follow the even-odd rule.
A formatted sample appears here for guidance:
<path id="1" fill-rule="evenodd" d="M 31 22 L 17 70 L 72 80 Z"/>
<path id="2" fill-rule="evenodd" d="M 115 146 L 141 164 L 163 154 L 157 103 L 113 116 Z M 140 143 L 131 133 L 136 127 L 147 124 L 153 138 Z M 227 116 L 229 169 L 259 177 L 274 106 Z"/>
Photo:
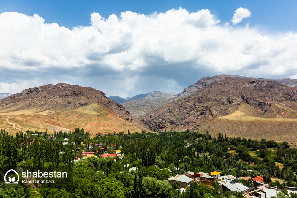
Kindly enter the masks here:
<path id="1" fill-rule="evenodd" d="M 77 127 L 91 134 L 145 129 L 121 104 L 90 87 L 49 84 L 0 100 L 0 128 L 8 132 L 18 129 L 53 132 Z"/>

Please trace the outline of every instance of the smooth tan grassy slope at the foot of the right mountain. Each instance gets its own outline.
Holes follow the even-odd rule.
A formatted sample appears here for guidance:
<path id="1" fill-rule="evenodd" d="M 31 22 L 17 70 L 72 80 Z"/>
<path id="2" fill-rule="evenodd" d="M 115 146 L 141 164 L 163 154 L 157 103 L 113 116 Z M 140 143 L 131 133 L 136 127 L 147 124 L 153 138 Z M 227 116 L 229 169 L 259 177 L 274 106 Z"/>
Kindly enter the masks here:
<path id="1" fill-rule="evenodd" d="M 280 111 L 283 110 L 282 107 Z M 291 109 L 288 108 L 288 110 Z M 292 147 L 296 147 L 297 119 L 260 117 L 255 110 L 248 108 L 247 105 L 241 105 L 233 113 L 214 118 L 209 123 L 195 128 L 195 131 L 203 133 L 209 131 L 216 136 L 220 132 L 228 137 L 287 141 Z"/>

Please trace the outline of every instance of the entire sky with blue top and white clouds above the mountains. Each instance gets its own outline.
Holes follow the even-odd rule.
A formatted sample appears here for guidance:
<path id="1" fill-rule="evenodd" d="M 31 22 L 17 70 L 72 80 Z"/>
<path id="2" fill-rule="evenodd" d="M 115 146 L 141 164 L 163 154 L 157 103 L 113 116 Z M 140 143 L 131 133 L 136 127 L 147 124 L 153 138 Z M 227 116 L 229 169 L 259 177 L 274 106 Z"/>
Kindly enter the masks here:
<path id="1" fill-rule="evenodd" d="M 59 82 L 132 97 L 203 76 L 297 78 L 297 1 L 0 2 L 0 93 Z"/>

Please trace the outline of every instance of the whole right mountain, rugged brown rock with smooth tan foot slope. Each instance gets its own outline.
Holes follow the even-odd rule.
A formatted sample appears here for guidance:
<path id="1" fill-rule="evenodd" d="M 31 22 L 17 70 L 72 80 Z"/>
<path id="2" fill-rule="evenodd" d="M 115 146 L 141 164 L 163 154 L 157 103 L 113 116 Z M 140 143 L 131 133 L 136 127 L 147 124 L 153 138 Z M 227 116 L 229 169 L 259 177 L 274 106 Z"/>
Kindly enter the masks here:
<path id="1" fill-rule="evenodd" d="M 297 87 L 272 80 L 226 77 L 144 115 L 151 130 L 297 140 Z"/>

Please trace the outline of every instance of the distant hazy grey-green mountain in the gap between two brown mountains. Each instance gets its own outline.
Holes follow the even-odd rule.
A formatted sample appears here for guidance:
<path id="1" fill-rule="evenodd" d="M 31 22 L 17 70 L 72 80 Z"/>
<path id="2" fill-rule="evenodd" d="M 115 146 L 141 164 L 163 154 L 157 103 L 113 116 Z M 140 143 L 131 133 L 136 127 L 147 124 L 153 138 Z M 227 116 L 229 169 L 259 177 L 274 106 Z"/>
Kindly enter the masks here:
<path id="1" fill-rule="evenodd" d="M 165 104 L 177 99 L 174 93 L 164 93 L 161 91 L 152 91 L 148 94 L 140 94 L 130 98 L 129 102 L 121 103 L 134 118 L 140 118 L 142 115 L 162 107 Z"/>

